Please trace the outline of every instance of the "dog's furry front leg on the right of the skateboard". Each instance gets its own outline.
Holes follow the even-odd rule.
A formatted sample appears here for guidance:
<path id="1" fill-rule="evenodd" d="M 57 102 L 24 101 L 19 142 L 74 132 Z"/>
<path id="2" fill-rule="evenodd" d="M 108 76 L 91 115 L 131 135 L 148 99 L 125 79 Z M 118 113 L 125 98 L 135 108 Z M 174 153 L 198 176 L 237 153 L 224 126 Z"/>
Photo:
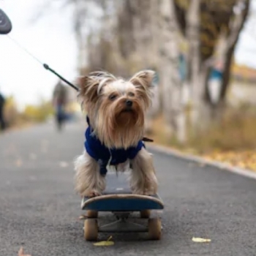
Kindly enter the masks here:
<path id="1" fill-rule="evenodd" d="M 142 148 L 132 160 L 130 184 L 135 194 L 154 195 L 157 193 L 158 184 L 153 159 L 145 148 Z"/>

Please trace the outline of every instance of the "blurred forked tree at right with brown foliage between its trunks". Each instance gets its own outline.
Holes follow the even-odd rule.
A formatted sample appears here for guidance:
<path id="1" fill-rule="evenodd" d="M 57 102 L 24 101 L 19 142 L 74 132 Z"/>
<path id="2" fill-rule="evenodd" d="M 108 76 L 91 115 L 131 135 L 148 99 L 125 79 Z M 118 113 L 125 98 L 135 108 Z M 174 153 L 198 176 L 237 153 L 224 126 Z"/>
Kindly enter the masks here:
<path id="1" fill-rule="evenodd" d="M 249 0 L 174 2 L 178 24 L 189 49 L 187 81 L 192 89 L 192 124 L 195 131 L 200 131 L 207 127 L 212 110 L 225 102 L 233 51 L 248 14 Z M 214 105 L 209 97 L 208 78 L 218 46 L 224 70 L 221 100 Z"/>

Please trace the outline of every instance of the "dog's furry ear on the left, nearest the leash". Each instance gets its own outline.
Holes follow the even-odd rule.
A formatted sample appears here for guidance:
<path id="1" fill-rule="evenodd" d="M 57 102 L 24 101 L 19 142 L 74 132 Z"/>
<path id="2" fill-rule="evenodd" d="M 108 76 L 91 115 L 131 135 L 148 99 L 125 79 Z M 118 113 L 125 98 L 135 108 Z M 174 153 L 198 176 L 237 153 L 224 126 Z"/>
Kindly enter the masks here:
<path id="1" fill-rule="evenodd" d="M 78 97 L 86 99 L 86 102 L 95 102 L 97 100 L 97 90 L 99 80 L 91 76 L 82 76 L 78 78 L 79 94 Z"/>

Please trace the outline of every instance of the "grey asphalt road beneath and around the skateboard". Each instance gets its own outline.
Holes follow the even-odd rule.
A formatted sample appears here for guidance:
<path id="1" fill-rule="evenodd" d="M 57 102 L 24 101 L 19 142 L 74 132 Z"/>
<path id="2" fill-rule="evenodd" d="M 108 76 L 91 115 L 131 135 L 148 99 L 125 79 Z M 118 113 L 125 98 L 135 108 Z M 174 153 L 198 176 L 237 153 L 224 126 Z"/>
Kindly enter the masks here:
<path id="1" fill-rule="evenodd" d="M 161 241 L 113 234 L 114 246 L 83 239 L 72 159 L 82 125 L 43 125 L 0 136 L 0 255 L 256 255 L 256 181 L 154 152 L 165 201 Z M 103 234 L 100 239 L 108 238 Z M 211 238 L 199 244 L 192 237 Z"/>

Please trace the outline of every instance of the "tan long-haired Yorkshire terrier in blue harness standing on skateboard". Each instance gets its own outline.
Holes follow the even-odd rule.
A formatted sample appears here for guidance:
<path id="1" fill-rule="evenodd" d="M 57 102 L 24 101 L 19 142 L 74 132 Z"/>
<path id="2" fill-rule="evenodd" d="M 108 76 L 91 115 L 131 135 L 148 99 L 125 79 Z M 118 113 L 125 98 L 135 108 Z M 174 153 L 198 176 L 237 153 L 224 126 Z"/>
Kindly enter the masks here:
<path id="1" fill-rule="evenodd" d="M 101 195 L 107 166 L 132 169 L 134 194 L 157 193 L 151 154 L 143 143 L 146 110 L 151 105 L 154 71 L 143 70 L 129 80 L 108 72 L 78 79 L 78 99 L 87 113 L 85 151 L 75 159 L 75 191 L 81 197 Z"/>

